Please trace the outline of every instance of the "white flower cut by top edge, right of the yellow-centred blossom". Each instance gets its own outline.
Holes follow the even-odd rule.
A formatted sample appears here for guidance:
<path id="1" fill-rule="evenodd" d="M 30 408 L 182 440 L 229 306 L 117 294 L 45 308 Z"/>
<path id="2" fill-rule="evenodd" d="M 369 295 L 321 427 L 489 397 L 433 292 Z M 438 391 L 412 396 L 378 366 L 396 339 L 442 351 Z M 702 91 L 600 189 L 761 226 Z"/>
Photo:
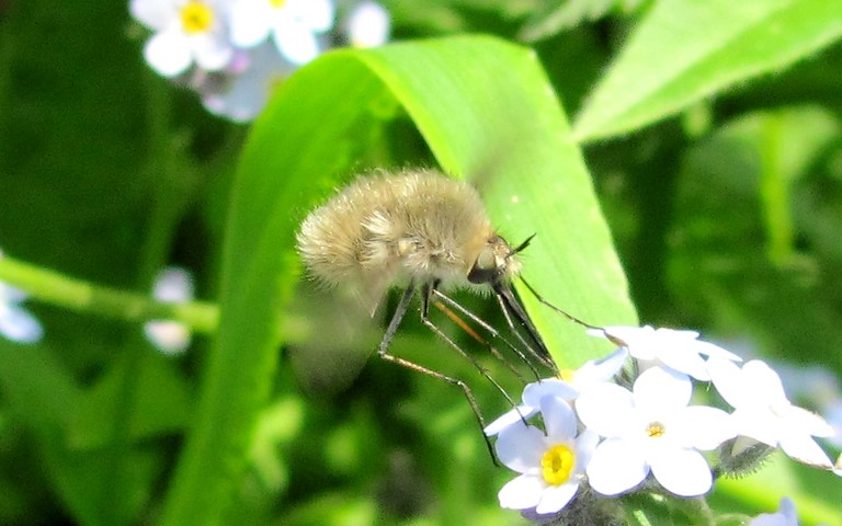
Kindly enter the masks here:
<path id="1" fill-rule="evenodd" d="M 330 0 L 237 0 L 231 5 L 231 39 L 242 47 L 272 34 L 278 52 L 296 65 L 320 52 L 317 34 L 333 25 Z"/>

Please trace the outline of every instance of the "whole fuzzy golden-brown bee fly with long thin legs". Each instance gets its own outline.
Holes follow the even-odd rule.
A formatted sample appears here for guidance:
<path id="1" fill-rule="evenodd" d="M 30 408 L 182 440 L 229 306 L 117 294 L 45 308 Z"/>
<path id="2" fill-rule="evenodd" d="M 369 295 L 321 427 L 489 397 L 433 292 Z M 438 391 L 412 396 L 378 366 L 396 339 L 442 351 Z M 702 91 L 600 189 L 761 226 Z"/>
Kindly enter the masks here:
<path id="1" fill-rule="evenodd" d="M 531 239 L 531 238 L 530 238 Z M 530 239 L 512 248 L 491 226 L 478 192 L 468 183 L 434 170 L 385 172 L 357 178 L 321 207 L 312 210 L 297 236 L 298 252 L 312 278 L 330 287 L 351 287 L 374 315 L 388 288 L 406 289 L 377 347 L 389 362 L 459 386 L 482 425 L 468 386 L 436 370 L 389 354 L 388 347 L 416 293 L 421 295 L 421 320 L 450 346 L 469 359 L 511 402 L 485 368 L 429 319 L 433 302 L 455 309 L 500 339 L 538 376 L 533 361 L 553 371 L 555 366 L 541 335 L 512 290 L 520 274 L 517 253 Z M 459 305 L 443 289 L 491 291 L 511 331 L 530 358 L 498 331 Z M 452 318 L 456 316 L 451 311 Z M 458 321 L 458 320 L 457 320 Z M 522 331 L 517 330 L 515 322 Z M 490 348 L 493 350 L 491 345 Z M 494 351 L 496 352 L 496 351 Z M 499 354 L 496 355 L 498 357 Z"/>

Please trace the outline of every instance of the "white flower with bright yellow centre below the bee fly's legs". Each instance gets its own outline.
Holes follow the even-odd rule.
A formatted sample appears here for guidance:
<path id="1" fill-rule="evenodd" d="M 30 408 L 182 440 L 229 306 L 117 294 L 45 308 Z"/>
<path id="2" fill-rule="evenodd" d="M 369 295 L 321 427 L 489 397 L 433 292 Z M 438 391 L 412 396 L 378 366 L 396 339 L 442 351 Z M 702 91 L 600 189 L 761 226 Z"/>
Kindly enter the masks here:
<path id="1" fill-rule="evenodd" d="M 544 397 L 541 412 L 546 434 L 537 427 L 511 425 L 497 439 L 500 461 L 522 473 L 500 490 L 502 507 L 558 512 L 576 495 L 584 477 L 596 434 L 584 431 L 577 437 L 576 414 L 558 398 Z"/>

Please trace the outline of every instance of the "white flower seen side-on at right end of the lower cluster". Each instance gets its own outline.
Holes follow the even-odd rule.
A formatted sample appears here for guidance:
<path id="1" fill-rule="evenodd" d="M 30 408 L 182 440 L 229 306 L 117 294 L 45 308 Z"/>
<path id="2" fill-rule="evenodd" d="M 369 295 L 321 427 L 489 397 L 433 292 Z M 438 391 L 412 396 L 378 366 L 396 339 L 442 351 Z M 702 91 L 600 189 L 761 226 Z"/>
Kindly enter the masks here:
<path id="1" fill-rule="evenodd" d="M 805 464 L 831 468 L 831 460 L 813 436 L 827 437 L 833 428 L 786 398 L 781 377 L 769 365 L 752 359 L 742 368 L 727 359 L 708 362 L 712 380 L 719 395 L 733 407 L 731 415 L 739 435 L 772 447 Z"/>

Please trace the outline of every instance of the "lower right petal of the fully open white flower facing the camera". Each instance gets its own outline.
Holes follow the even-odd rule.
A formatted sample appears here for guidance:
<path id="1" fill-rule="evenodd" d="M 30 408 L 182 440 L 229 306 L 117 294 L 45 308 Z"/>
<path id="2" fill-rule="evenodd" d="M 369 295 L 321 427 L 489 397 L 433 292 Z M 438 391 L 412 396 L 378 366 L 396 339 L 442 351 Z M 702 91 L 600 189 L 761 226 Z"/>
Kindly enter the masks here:
<path id="1" fill-rule="evenodd" d="M 694 449 L 663 448 L 649 462 L 656 480 L 679 496 L 696 496 L 710 491 L 710 467 Z"/>

